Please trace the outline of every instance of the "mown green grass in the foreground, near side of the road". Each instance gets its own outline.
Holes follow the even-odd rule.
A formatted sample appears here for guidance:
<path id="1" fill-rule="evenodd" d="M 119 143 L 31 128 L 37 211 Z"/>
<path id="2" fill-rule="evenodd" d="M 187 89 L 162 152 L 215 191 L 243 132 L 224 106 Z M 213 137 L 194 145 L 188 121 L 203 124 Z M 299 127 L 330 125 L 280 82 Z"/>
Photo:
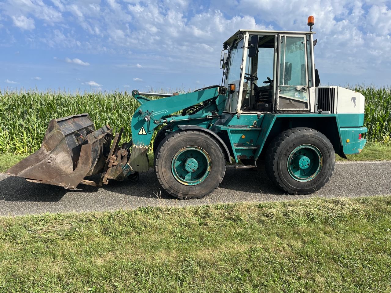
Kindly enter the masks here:
<path id="1" fill-rule="evenodd" d="M 391 197 L 0 218 L 0 292 L 389 292 Z"/>

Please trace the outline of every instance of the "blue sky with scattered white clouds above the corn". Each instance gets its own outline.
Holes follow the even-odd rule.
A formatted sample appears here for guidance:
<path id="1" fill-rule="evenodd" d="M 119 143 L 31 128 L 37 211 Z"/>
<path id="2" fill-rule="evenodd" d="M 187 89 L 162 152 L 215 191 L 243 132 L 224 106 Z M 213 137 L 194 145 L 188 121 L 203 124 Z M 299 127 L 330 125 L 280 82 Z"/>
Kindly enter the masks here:
<path id="1" fill-rule="evenodd" d="M 391 1 L 1 0 L 0 88 L 195 89 L 238 29 L 307 31 L 323 84 L 391 85 Z"/>

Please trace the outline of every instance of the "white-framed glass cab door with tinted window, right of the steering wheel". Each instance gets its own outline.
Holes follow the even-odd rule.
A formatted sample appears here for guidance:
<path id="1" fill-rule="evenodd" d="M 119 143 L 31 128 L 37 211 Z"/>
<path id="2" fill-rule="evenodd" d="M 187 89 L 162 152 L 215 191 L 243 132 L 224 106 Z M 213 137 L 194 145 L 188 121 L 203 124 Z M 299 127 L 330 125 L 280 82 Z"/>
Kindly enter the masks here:
<path id="1" fill-rule="evenodd" d="M 278 35 L 277 110 L 309 110 L 305 35 Z"/>

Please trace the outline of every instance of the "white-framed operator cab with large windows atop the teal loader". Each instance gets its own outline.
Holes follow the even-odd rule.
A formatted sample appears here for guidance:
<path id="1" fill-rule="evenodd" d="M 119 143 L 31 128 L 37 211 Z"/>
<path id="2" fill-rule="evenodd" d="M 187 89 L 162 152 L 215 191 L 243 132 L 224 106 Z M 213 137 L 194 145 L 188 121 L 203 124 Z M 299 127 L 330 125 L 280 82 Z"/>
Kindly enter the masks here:
<path id="1" fill-rule="evenodd" d="M 313 32 L 239 30 L 224 43 L 225 112 L 314 111 Z"/>

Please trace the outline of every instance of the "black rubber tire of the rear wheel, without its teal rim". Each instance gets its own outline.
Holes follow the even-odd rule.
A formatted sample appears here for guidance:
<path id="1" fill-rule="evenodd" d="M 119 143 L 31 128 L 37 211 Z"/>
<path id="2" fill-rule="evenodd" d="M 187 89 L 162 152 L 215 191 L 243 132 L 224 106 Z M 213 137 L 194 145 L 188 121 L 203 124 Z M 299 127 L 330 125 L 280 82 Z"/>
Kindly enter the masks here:
<path id="1" fill-rule="evenodd" d="M 321 169 L 316 176 L 305 182 L 294 179 L 288 170 L 288 160 L 292 158 L 292 152 L 301 145 L 316 147 L 322 156 L 322 163 L 319 164 Z M 283 131 L 271 141 L 266 151 L 267 175 L 279 188 L 291 194 L 304 195 L 319 190 L 330 179 L 334 167 L 335 154 L 330 140 L 321 132 L 307 127 Z"/>

